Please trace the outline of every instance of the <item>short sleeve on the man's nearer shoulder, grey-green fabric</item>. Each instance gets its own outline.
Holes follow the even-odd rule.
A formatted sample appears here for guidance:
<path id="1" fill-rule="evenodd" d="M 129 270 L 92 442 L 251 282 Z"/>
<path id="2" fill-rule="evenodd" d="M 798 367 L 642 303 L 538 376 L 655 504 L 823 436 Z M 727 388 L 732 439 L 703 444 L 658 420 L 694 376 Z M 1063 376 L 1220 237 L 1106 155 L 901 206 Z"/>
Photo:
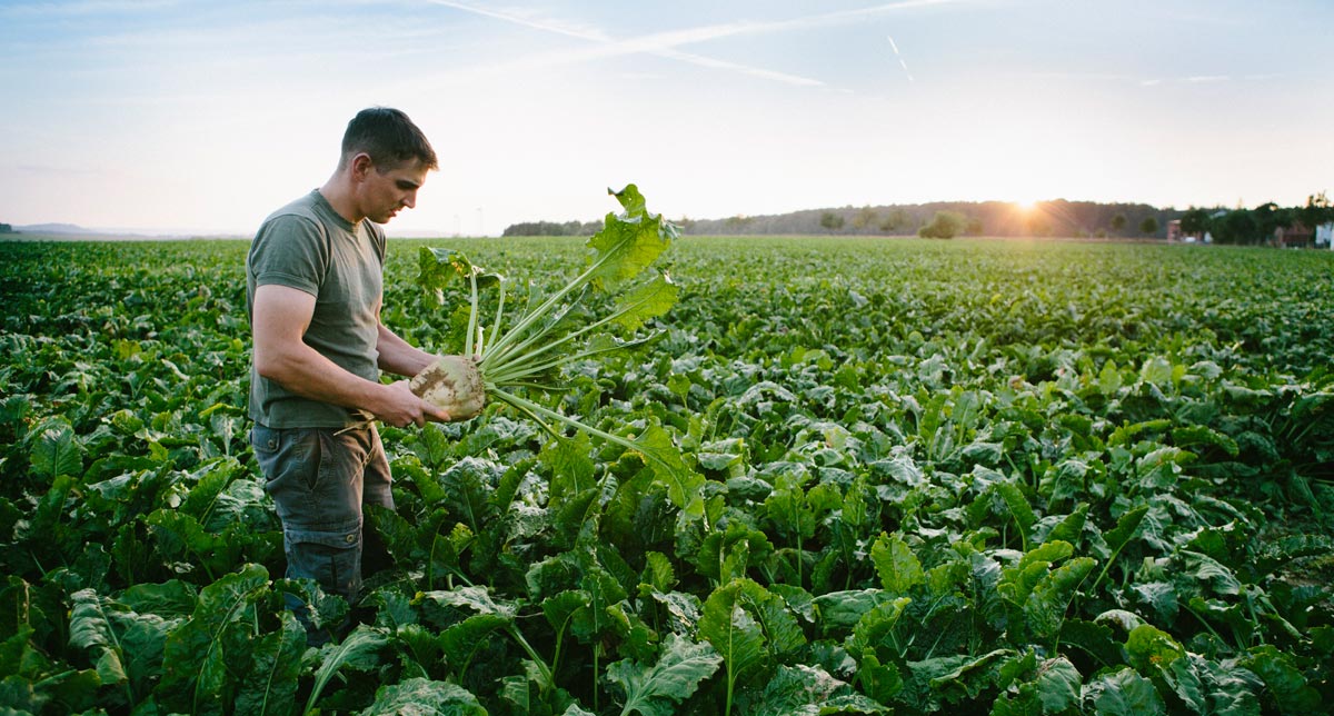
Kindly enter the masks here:
<path id="1" fill-rule="evenodd" d="M 315 221 L 297 215 L 269 219 L 255 236 L 255 285 L 285 285 L 319 296 L 328 269 L 328 245 Z"/>

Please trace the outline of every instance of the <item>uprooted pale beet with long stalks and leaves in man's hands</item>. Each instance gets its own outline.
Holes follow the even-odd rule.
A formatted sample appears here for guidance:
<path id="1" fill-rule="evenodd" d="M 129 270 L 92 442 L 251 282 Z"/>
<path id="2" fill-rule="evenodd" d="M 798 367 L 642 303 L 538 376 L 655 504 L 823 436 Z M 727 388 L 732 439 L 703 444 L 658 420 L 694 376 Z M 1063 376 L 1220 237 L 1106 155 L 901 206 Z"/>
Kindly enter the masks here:
<path id="1" fill-rule="evenodd" d="M 688 468 L 671 441 L 664 440 L 667 436 L 660 428 L 650 428 L 639 439 L 628 440 L 519 395 L 520 391 L 559 392 L 566 365 L 652 340 L 656 333 L 636 333 L 646 321 L 662 316 L 676 303 L 676 284 L 666 272 L 650 268 L 678 236 L 676 227 L 660 215 L 648 213 L 634 184 L 619 192 L 608 189 L 608 193 L 624 211 L 608 213 L 603 229 L 588 239 L 587 267 L 546 297 L 530 293 L 516 317 L 506 315 L 504 277 L 472 264 L 456 251 L 423 248 L 418 284 L 434 291 L 443 303 L 442 288 L 463 277 L 471 303 L 463 355 L 443 356 L 412 379 L 412 389 L 448 411 L 455 420 L 478 415 L 488 400 L 504 403 L 552 435 L 560 435 L 554 424 L 584 431 L 644 455 L 679 479 Z M 488 327 L 480 320 L 479 291 L 491 287 L 498 288 L 499 297 Z M 604 316 L 595 316 L 590 299 L 607 296 L 615 299 L 612 308 Z"/>

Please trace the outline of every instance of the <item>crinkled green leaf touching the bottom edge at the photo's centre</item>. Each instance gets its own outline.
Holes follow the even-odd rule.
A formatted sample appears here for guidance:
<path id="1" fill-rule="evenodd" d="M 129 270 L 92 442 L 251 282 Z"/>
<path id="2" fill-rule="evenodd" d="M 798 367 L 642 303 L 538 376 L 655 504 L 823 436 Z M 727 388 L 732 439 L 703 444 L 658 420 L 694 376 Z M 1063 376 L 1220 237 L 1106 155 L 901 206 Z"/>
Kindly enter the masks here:
<path id="1" fill-rule="evenodd" d="M 676 704 L 694 695 L 699 683 L 712 676 L 722 661 L 723 657 L 710 644 L 696 644 L 670 633 L 655 664 L 650 667 L 628 659 L 616 661 L 607 665 L 607 679 L 626 692 L 622 716 L 636 712 L 671 716 Z"/>

